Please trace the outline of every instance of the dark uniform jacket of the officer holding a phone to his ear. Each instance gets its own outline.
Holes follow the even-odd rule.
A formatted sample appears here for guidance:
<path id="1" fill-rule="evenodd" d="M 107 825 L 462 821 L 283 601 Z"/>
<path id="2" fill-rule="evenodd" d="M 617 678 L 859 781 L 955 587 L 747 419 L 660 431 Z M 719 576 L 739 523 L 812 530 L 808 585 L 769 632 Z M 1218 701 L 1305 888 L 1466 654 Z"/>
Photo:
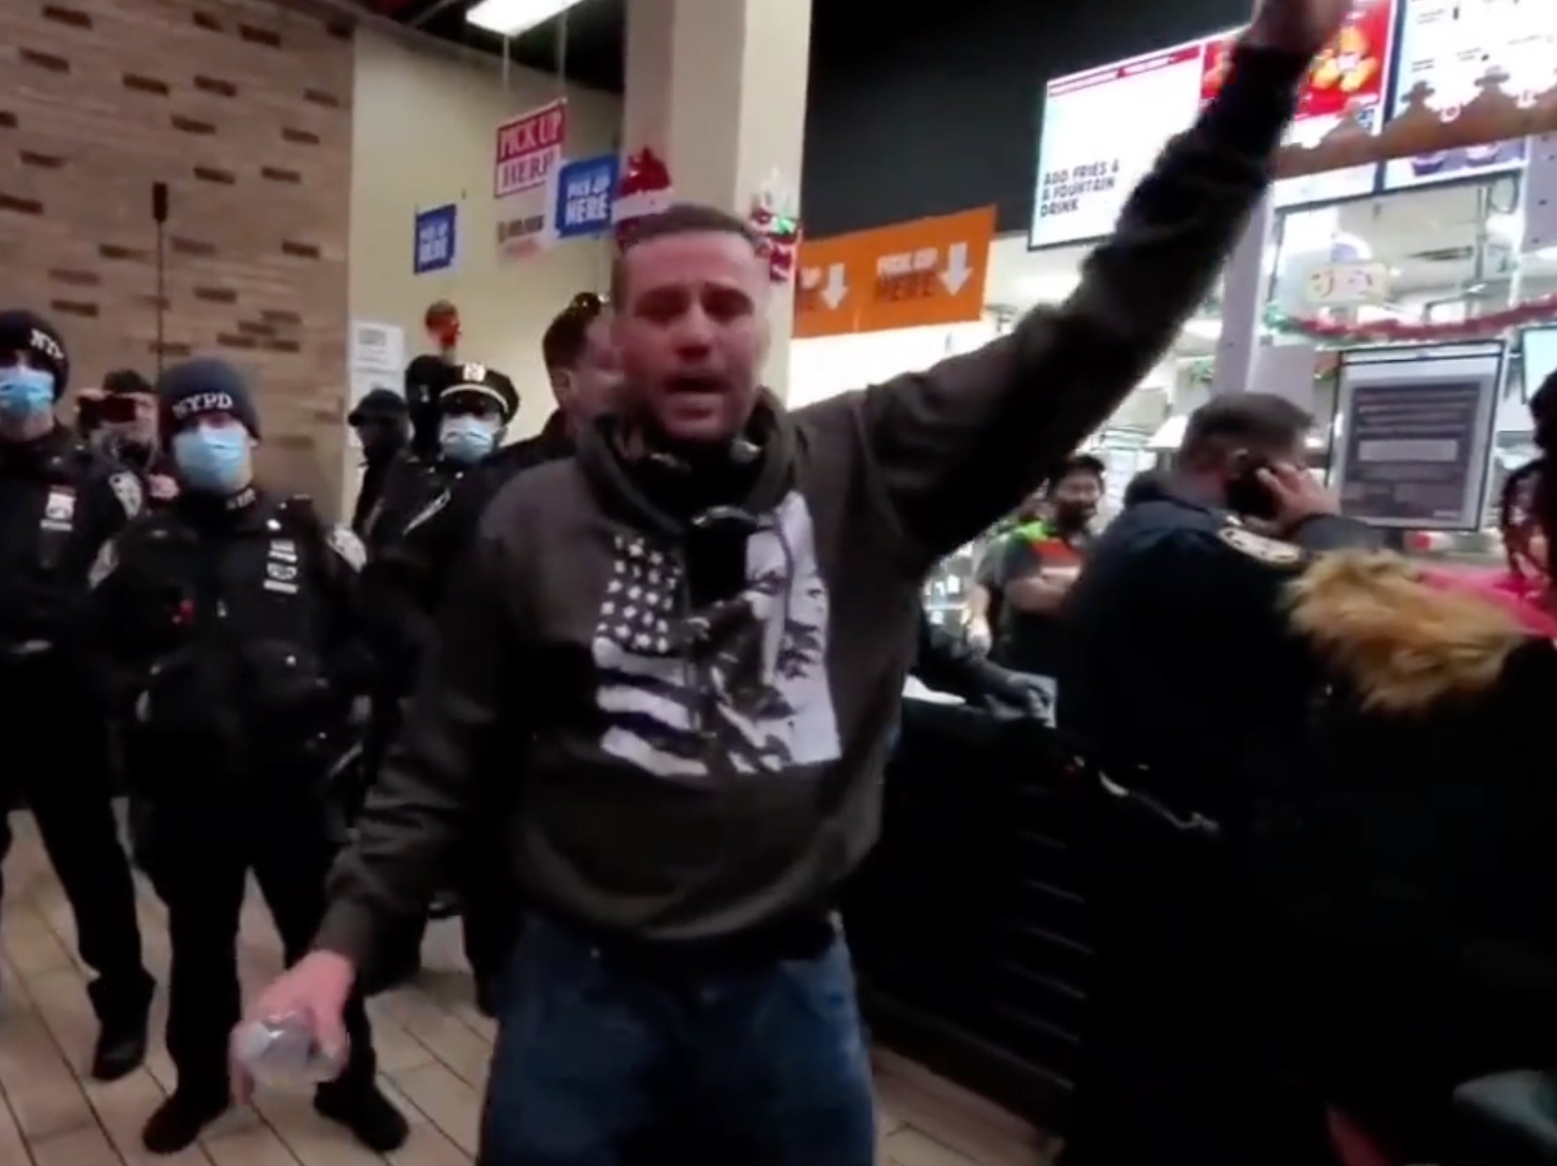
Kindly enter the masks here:
<path id="1" fill-rule="evenodd" d="M 1283 588 L 1314 553 L 1376 540 L 1331 515 L 1272 539 L 1165 481 L 1143 484 L 1062 612 L 1062 732 L 1119 780 L 1148 767 L 1185 806 L 1239 813 L 1249 775 L 1285 772 L 1306 732 L 1316 663 Z"/>

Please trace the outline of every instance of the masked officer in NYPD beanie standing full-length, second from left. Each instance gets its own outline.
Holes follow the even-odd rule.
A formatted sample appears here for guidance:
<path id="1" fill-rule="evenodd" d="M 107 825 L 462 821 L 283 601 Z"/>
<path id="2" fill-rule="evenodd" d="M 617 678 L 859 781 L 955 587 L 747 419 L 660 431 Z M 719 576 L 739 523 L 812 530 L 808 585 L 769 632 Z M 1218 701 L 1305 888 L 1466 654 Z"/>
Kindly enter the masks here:
<path id="1" fill-rule="evenodd" d="M 93 624 L 142 741 L 137 850 L 168 908 L 177 1088 L 143 1141 L 174 1154 L 229 1104 L 248 872 L 288 961 L 319 923 L 339 841 L 327 775 L 367 668 L 353 609 L 361 545 L 327 529 L 308 500 L 255 486 L 260 425 L 241 377 L 221 361 L 188 361 L 168 369 L 157 394 L 181 492 L 106 545 Z M 315 1108 L 383 1154 L 406 1124 L 374 1082 L 360 999 L 349 1015 L 349 1062 L 319 1087 Z"/>

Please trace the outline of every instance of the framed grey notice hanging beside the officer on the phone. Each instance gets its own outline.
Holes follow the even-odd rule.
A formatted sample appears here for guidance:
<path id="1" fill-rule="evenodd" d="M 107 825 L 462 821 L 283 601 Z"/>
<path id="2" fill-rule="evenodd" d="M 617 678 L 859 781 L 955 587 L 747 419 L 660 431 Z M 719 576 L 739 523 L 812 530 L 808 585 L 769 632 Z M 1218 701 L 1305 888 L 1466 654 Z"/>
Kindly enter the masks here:
<path id="1" fill-rule="evenodd" d="M 1333 486 L 1375 526 L 1478 531 L 1503 344 L 1347 352 Z"/>

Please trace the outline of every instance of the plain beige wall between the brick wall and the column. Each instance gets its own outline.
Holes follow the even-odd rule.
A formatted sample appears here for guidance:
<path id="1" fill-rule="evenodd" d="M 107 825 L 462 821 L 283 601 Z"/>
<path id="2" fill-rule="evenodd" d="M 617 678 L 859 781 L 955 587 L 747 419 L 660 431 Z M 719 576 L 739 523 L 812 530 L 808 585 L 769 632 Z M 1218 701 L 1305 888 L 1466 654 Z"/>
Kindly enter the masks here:
<path id="1" fill-rule="evenodd" d="M 3 3 L 3 0 L 0 0 Z M 492 151 L 497 125 L 557 95 L 556 78 L 364 25 L 357 36 L 357 120 L 352 140 L 352 314 L 399 324 L 408 355 L 428 349 L 422 313 L 450 299 L 464 321 L 461 356 L 501 369 L 520 391 L 511 436 L 534 433 L 553 408 L 540 335 L 578 291 L 606 290 L 607 249 L 559 244 L 525 260 L 497 251 Z M 570 157 L 617 145 L 621 103 L 568 90 Z M 455 271 L 411 274 L 417 209 L 459 204 Z"/>

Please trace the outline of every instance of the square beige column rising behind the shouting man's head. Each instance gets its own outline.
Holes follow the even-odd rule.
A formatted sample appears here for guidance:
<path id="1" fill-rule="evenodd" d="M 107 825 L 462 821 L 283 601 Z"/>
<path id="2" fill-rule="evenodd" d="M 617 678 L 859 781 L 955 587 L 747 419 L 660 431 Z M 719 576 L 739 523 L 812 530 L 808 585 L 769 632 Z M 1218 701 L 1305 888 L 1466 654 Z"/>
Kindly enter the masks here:
<path id="1" fill-rule="evenodd" d="M 743 216 L 774 173 L 799 196 L 810 54 L 811 0 L 627 0 L 623 154 L 654 149 L 679 201 Z M 774 288 L 780 395 L 793 325 L 793 290 Z"/>

